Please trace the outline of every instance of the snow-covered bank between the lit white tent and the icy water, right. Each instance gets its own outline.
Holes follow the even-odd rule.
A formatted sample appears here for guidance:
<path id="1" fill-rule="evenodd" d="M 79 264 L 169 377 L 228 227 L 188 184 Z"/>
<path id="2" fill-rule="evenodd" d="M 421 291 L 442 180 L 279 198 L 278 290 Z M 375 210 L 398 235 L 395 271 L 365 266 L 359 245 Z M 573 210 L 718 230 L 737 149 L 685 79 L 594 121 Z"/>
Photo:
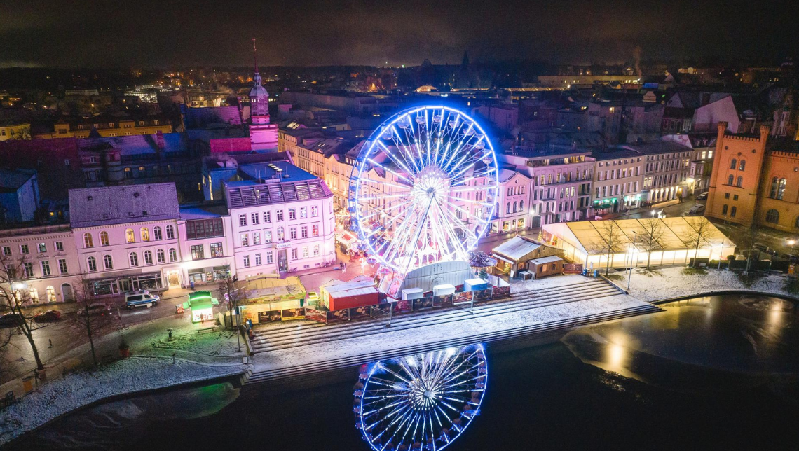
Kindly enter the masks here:
<path id="1" fill-rule="evenodd" d="M 630 282 L 630 295 L 655 302 L 680 296 L 699 295 L 710 291 L 747 290 L 773 293 L 775 295 L 791 295 L 783 290 L 785 277 L 769 275 L 758 279 L 751 287 L 746 287 L 732 271 L 708 269 L 707 274 L 685 275 L 685 267 L 667 267 L 651 272 L 637 268 L 633 271 Z M 626 287 L 627 279 L 618 281 L 618 285 Z"/>

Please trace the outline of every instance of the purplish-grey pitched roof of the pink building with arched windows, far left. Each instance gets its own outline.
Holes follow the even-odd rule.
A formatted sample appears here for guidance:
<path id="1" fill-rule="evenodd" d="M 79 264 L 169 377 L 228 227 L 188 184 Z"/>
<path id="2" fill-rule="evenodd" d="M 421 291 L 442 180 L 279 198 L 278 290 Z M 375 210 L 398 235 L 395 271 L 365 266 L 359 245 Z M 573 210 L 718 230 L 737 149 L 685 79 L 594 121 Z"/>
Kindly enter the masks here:
<path id="1" fill-rule="evenodd" d="M 70 189 L 70 224 L 95 227 L 180 219 L 175 184 Z"/>

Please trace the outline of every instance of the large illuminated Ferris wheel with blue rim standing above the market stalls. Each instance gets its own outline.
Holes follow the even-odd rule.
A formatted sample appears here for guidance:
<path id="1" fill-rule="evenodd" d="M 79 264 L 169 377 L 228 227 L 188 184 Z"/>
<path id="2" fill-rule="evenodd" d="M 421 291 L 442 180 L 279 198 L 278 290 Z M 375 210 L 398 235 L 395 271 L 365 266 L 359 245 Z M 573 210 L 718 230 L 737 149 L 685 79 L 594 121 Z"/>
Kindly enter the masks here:
<path id="1" fill-rule="evenodd" d="M 352 229 L 401 275 L 468 261 L 499 189 L 491 140 L 467 114 L 421 106 L 396 114 L 364 144 L 350 178 Z"/>

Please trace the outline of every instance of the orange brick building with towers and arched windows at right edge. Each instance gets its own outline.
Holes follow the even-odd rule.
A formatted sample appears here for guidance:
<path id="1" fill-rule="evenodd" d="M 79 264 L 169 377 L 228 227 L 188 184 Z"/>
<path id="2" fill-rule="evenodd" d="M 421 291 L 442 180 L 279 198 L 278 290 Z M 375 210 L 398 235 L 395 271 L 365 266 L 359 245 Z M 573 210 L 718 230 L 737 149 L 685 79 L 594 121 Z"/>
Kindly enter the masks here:
<path id="1" fill-rule="evenodd" d="M 799 230 L 799 145 L 759 135 L 725 133 L 718 138 L 705 216 L 781 231 Z"/>

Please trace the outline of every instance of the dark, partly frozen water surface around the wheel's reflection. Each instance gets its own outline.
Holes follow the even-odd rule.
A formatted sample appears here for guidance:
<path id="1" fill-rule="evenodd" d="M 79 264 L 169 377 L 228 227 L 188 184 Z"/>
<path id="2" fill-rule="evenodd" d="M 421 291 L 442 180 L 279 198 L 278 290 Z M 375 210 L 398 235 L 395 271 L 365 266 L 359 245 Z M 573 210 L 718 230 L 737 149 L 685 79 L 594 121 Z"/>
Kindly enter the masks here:
<path id="1" fill-rule="evenodd" d="M 448 449 L 799 449 L 797 309 L 724 296 L 499 351 L 479 417 Z M 11 449 L 364 450 L 344 378 L 228 384 L 76 413 Z"/>

